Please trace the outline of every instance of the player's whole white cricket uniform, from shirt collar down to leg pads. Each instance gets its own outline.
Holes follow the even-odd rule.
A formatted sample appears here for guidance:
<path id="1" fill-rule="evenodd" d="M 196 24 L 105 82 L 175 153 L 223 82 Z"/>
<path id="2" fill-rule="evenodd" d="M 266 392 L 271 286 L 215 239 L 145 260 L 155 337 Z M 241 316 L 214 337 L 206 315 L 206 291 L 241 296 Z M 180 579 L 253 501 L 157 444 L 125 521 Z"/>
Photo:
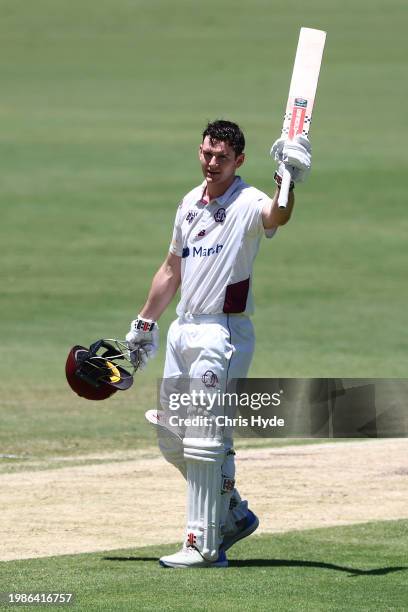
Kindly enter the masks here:
<path id="1" fill-rule="evenodd" d="M 165 410 L 171 379 L 186 378 L 190 388 L 215 393 L 226 391 L 229 380 L 247 376 L 254 350 L 249 318 L 253 313 L 252 266 L 262 236 L 272 237 L 276 231 L 265 230 L 262 224 L 262 209 L 270 202 L 269 196 L 240 177 L 208 204 L 202 199 L 205 186 L 204 182 L 190 191 L 180 203 L 170 245 L 170 252 L 182 258 L 182 281 L 178 319 L 167 337 L 161 390 Z M 213 411 L 226 414 L 221 406 Z M 177 434 L 177 439 L 159 436 L 159 445 L 164 457 L 187 478 L 186 541 L 193 541 L 205 558 L 213 559 L 222 534 L 232 530 L 247 512 L 247 502 L 234 489 L 232 429 L 221 428 L 214 436 L 224 449 L 221 459 L 211 450 L 211 441 L 208 446 L 213 429 L 200 432 L 198 438 L 188 427 Z M 200 463 L 203 454 L 213 457 L 215 467 Z M 214 471 L 204 476 L 200 471 L 204 469 Z M 200 479 L 213 483 L 205 498 L 197 493 Z M 197 499 L 207 504 L 207 510 L 200 508 Z M 212 516 L 207 524 L 204 515 Z"/>

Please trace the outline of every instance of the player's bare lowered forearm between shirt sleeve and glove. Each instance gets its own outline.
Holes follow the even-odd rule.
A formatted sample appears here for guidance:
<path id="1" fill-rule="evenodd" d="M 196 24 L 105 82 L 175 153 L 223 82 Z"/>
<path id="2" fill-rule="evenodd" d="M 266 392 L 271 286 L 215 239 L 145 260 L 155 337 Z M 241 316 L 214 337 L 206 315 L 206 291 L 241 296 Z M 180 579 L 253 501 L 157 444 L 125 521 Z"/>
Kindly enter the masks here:
<path id="1" fill-rule="evenodd" d="M 181 282 L 181 257 L 169 253 L 154 275 L 140 316 L 157 321 L 175 296 Z"/>

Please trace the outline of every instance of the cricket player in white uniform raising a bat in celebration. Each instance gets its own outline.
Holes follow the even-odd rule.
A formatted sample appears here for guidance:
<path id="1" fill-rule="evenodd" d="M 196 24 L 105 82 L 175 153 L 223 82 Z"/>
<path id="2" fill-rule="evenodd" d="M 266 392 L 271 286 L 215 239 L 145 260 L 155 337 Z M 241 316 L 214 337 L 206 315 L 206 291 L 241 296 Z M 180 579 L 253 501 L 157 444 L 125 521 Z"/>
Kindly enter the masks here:
<path id="1" fill-rule="evenodd" d="M 252 266 L 263 235 L 272 238 L 294 205 L 294 185 L 311 167 L 307 138 L 278 139 L 273 198 L 237 175 L 245 139 L 235 123 L 217 120 L 205 128 L 198 149 L 204 181 L 179 204 L 169 253 L 153 278 L 147 301 L 126 336 L 143 364 L 158 349 L 157 321 L 177 290 L 178 318 L 167 336 L 163 380 L 187 378 L 196 391 L 216 393 L 247 376 L 254 351 Z M 287 208 L 278 207 L 285 169 L 292 183 Z M 167 394 L 168 395 L 168 394 Z M 162 392 L 166 404 L 166 390 Z M 213 407 L 213 415 L 222 406 Z M 207 414 L 209 412 L 207 411 Z M 226 551 L 258 527 L 256 515 L 235 488 L 231 428 L 159 427 L 159 446 L 187 481 L 187 527 L 182 549 L 162 557 L 164 567 L 226 567 Z"/>

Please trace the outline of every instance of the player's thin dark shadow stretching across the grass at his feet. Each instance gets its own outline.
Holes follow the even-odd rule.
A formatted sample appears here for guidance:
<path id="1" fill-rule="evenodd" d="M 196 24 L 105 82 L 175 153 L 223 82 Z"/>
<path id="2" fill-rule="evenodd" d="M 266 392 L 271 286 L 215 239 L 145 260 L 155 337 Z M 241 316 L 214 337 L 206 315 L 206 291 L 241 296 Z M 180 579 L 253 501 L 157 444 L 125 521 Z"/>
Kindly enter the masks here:
<path id="1" fill-rule="evenodd" d="M 103 557 L 104 561 L 141 561 L 158 562 L 157 557 Z M 328 569 L 336 572 L 345 572 L 351 577 L 356 576 L 385 576 L 393 572 L 408 570 L 407 566 L 379 567 L 372 570 L 362 570 L 353 567 L 343 567 L 334 563 L 323 563 L 321 561 L 303 561 L 296 559 L 245 559 L 242 561 L 229 561 L 228 567 L 313 567 L 317 569 Z"/>

